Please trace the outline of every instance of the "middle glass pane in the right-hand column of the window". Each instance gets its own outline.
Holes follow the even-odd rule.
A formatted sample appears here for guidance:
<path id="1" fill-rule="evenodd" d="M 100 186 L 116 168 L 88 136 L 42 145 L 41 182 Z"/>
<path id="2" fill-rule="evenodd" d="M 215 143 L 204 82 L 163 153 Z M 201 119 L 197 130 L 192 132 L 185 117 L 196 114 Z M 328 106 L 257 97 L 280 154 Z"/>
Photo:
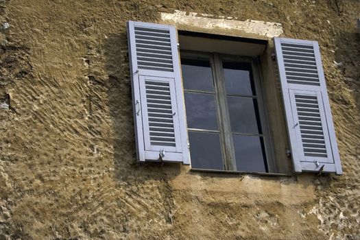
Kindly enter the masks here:
<path id="1" fill-rule="evenodd" d="M 256 99 L 251 97 L 228 97 L 228 107 L 232 132 L 261 134 Z"/>

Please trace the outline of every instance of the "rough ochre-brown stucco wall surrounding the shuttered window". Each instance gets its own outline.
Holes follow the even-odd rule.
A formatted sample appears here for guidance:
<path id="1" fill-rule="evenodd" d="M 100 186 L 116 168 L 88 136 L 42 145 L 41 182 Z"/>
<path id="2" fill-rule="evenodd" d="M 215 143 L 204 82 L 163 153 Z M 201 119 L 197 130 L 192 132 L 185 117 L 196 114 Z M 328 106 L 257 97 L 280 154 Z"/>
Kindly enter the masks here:
<path id="1" fill-rule="evenodd" d="M 1 0 L 0 239 L 360 239 L 360 3 Z M 343 176 L 139 165 L 125 23 L 174 10 L 318 40 Z M 2 105 L 3 106 L 3 105 Z"/>

